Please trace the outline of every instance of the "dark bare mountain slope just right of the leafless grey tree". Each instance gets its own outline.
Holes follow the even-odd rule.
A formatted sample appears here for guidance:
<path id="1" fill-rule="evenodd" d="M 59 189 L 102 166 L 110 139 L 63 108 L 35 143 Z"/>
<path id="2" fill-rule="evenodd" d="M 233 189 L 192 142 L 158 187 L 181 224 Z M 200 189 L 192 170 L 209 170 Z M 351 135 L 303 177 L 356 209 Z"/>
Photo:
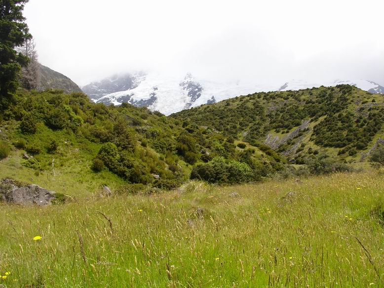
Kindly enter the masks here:
<path id="1" fill-rule="evenodd" d="M 67 76 L 56 72 L 44 65 L 39 65 L 39 90 L 60 89 L 65 93 L 81 92 L 81 89 L 75 82 Z"/>

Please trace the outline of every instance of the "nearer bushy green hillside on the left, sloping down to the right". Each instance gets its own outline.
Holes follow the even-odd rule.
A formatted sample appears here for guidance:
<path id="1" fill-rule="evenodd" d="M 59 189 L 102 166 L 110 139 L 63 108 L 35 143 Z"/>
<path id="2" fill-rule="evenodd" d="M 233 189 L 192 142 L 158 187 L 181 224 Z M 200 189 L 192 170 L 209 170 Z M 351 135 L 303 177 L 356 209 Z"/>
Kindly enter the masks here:
<path id="1" fill-rule="evenodd" d="M 219 132 L 145 107 L 105 106 L 60 90 L 19 90 L 13 100 L 0 118 L 0 150 L 8 151 L 1 154 L 0 178 L 73 197 L 101 184 L 132 192 L 175 189 L 206 163 L 214 166 L 211 182 L 230 184 L 284 168 L 273 151 L 236 147 Z"/>

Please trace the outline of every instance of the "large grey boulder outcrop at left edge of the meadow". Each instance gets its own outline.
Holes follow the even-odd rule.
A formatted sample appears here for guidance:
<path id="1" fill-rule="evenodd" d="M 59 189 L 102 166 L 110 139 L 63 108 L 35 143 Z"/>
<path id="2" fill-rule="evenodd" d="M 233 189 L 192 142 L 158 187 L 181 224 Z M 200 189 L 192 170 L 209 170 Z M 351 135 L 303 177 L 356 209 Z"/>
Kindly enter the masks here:
<path id="1" fill-rule="evenodd" d="M 11 179 L 0 181 L 0 201 L 20 205 L 44 206 L 56 199 L 55 192 L 38 185 L 22 185 Z"/>

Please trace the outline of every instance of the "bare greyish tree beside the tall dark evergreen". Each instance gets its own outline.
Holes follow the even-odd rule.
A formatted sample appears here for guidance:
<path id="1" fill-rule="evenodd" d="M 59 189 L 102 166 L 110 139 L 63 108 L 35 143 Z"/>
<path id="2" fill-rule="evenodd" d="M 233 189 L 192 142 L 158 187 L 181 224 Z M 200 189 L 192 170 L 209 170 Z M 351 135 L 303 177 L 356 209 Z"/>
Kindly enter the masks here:
<path id="1" fill-rule="evenodd" d="M 40 82 L 40 67 L 34 39 L 27 39 L 21 46 L 16 47 L 16 51 L 29 59 L 28 64 L 21 68 L 21 85 L 29 90 L 37 89 Z"/>

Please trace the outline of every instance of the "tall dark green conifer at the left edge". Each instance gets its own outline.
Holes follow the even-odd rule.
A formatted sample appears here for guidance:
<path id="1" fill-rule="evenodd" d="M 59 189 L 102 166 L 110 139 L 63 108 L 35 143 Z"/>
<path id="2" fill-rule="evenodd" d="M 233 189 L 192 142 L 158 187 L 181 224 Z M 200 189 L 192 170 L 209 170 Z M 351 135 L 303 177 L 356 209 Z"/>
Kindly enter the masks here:
<path id="1" fill-rule="evenodd" d="M 27 2 L 0 0 L 0 109 L 18 87 L 21 66 L 28 64 L 28 57 L 15 50 L 32 38 L 22 13 Z"/>

